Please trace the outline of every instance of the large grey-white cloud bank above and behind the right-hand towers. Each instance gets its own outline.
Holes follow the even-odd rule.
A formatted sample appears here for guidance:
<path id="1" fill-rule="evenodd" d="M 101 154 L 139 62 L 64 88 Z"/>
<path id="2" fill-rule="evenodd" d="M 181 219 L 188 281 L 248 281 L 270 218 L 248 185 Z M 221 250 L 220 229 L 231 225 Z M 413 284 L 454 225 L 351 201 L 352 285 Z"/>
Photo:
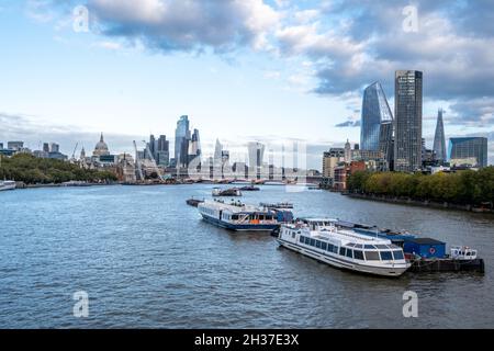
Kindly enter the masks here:
<path id="1" fill-rule="evenodd" d="M 494 95 L 494 2 L 415 3 L 416 33 L 403 30 L 408 1 L 349 0 L 324 12 L 326 19 L 345 20 L 278 30 L 281 53 L 304 55 L 315 64 L 318 94 L 361 91 L 375 80 L 391 92 L 395 70 L 417 69 L 424 72 L 426 99 L 452 102 L 459 122 L 492 123 L 485 98 Z"/>

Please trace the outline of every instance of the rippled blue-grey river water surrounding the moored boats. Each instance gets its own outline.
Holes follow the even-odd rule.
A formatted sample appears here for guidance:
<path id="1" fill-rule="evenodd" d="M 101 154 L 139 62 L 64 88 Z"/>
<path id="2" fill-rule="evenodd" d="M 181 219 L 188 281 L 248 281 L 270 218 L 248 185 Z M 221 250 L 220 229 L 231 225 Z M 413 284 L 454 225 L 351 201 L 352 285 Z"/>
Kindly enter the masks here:
<path id="1" fill-rule="evenodd" d="M 493 328 L 494 216 L 261 186 L 243 201 L 290 201 L 296 216 L 407 229 L 478 248 L 485 274 L 333 269 L 236 234 L 186 205 L 213 185 L 1 192 L 1 328 Z M 418 317 L 403 316 L 403 293 Z M 76 292 L 89 315 L 75 317 Z"/>

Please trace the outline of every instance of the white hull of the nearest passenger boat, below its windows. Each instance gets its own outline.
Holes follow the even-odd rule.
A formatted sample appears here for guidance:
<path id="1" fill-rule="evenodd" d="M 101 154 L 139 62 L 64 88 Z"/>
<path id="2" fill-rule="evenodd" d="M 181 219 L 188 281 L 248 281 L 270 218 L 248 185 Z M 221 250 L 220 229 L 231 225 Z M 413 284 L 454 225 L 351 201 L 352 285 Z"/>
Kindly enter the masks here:
<path id="1" fill-rule="evenodd" d="M 332 267 L 349 270 L 357 273 L 362 274 L 371 274 L 371 275 L 379 275 L 379 276 L 389 276 L 389 278 L 396 278 L 402 275 L 406 272 L 408 267 L 400 267 L 400 268 L 385 268 L 385 267 L 371 267 L 371 265 L 364 265 L 364 264 L 358 264 L 355 262 L 349 262 L 346 260 L 338 259 L 336 257 L 330 257 L 327 254 L 323 254 L 321 252 L 317 252 L 315 250 L 311 250 L 308 248 L 304 248 L 297 245 L 294 245 L 293 242 L 283 240 L 281 238 L 278 238 L 278 242 L 280 246 L 290 249 L 292 251 L 302 253 L 304 256 L 307 256 L 312 259 L 315 259 L 319 262 L 329 264 Z"/>

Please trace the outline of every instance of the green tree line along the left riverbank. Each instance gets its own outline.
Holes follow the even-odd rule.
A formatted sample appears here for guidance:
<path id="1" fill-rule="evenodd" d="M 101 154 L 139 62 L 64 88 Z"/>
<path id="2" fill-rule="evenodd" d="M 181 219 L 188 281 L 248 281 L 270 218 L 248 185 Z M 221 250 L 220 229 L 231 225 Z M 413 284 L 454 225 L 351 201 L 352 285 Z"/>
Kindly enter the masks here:
<path id="1" fill-rule="evenodd" d="M 1 157 L 1 156 L 0 156 Z M 67 161 L 36 158 L 29 154 L 18 154 L 0 159 L 0 180 L 15 180 L 26 184 L 49 184 L 68 181 L 105 182 L 116 181 L 109 171 L 82 169 Z"/>

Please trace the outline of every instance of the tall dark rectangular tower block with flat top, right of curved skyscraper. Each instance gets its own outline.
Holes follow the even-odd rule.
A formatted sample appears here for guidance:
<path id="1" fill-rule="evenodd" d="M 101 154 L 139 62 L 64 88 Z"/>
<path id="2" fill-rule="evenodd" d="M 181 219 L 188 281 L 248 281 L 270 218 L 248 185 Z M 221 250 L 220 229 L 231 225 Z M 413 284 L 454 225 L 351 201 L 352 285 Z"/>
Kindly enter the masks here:
<path id="1" fill-rule="evenodd" d="M 422 168 L 422 81 L 416 70 L 397 70 L 394 94 L 394 170 Z"/>

